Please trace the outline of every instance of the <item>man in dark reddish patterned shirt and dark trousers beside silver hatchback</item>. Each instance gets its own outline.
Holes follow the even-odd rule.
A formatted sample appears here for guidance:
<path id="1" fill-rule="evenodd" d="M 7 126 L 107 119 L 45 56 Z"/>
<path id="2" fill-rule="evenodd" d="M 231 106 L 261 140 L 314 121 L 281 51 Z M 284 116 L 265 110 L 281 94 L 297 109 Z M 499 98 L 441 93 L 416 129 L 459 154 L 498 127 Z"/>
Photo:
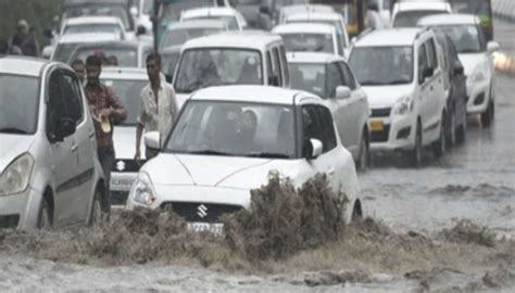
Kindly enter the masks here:
<path id="1" fill-rule="evenodd" d="M 87 84 L 84 90 L 93 117 L 98 156 L 105 176 L 105 194 L 108 194 L 108 207 L 110 207 L 109 183 L 111 180 L 111 168 L 115 160 L 112 125 L 125 120 L 127 118 L 127 110 L 122 105 L 112 88 L 100 84 L 99 77 L 101 72 L 101 59 L 95 55 L 88 56 L 86 60 Z"/>

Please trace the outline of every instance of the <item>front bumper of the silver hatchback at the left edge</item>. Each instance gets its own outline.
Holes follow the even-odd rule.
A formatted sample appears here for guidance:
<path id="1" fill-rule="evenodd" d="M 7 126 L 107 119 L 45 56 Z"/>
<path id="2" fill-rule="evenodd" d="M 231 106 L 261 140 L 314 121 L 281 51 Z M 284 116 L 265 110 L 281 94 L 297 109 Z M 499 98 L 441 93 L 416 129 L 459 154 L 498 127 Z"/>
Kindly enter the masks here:
<path id="1" fill-rule="evenodd" d="M 30 187 L 21 193 L 0 196 L 0 228 L 36 228 L 41 198 Z"/>

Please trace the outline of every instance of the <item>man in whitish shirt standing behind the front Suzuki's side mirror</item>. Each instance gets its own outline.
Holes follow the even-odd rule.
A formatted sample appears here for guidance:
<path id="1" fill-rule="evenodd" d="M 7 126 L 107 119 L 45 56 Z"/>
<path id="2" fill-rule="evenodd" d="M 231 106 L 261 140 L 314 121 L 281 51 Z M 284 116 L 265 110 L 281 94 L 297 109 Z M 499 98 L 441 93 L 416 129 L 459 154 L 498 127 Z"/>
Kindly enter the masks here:
<path id="1" fill-rule="evenodd" d="M 147 74 L 149 85 L 141 90 L 139 97 L 138 125 L 136 128 L 136 154 L 135 160 L 141 157 L 141 136 L 145 131 L 159 131 L 164 138 L 166 131 L 177 119 L 178 105 L 175 91 L 161 78 L 161 56 L 151 53 L 147 56 Z M 146 149 L 146 157 L 150 160 L 158 155 L 153 150 Z"/>

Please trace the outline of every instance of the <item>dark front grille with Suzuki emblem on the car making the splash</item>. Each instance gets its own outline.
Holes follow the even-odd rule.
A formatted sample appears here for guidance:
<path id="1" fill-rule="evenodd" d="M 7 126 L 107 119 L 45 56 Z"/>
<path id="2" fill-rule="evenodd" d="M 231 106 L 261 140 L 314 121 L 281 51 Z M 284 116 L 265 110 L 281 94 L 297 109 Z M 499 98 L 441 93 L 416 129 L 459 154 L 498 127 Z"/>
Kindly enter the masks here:
<path id="1" fill-rule="evenodd" d="M 167 202 L 162 208 L 172 208 L 186 221 L 217 222 L 225 214 L 236 213 L 243 207 L 239 205 Z"/>

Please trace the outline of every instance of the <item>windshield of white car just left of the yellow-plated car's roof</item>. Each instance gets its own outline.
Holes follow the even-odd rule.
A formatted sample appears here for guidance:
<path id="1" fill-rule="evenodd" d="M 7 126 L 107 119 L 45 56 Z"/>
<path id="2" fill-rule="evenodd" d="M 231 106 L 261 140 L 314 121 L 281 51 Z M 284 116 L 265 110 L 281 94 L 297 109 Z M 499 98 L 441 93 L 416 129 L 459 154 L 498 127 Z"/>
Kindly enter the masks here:
<path id="1" fill-rule="evenodd" d="M 288 52 L 326 52 L 337 53 L 332 46 L 331 35 L 324 34 L 281 34 Z"/>

